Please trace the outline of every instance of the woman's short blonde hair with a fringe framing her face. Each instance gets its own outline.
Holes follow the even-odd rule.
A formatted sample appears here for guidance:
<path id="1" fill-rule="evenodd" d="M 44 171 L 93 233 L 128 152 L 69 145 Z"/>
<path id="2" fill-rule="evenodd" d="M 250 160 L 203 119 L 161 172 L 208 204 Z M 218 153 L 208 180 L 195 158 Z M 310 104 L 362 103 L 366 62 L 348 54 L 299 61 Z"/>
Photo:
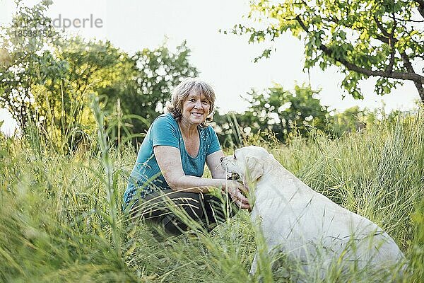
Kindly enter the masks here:
<path id="1" fill-rule="evenodd" d="M 168 112 L 174 116 L 175 120 L 179 121 L 182 117 L 182 103 L 187 99 L 190 93 L 195 91 L 198 96 L 204 96 L 209 103 L 208 117 L 204 122 L 201 122 L 200 127 L 208 127 L 208 122 L 212 121 L 213 110 L 215 106 L 215 91 L 211 85 L 199 78 L 184 79 L 172 91 L 171 104 L 167 106 Z"/>

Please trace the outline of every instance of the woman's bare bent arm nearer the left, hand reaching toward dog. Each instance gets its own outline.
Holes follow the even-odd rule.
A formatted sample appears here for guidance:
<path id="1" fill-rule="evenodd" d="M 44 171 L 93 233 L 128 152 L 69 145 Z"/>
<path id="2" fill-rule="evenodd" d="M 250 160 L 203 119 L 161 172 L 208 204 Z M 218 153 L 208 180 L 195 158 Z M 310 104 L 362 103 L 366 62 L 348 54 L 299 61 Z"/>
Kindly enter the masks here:
<path id="1" fill-rule="evenodd" d="M 179 149 L 172 146 L 155 146 L 153 148 L 156 161 L 168 185 L 172 190 L 184 190 L 185 192 L 209 192 L 210 187 L 228 189 L 233 200 L 241 208 L 249 208 L 247 197 L 242 195 L 240 184 L 233 180 L 200 178 L 185 175 L 182 170 Z M 222 151 L 221 151 L 222 154 Z M 211 154 L 212 155 L 212 154 Z M 219 157 L 218 157 L 219 160 Z M 224 172 L 225 175 L 225 172 Z"/>

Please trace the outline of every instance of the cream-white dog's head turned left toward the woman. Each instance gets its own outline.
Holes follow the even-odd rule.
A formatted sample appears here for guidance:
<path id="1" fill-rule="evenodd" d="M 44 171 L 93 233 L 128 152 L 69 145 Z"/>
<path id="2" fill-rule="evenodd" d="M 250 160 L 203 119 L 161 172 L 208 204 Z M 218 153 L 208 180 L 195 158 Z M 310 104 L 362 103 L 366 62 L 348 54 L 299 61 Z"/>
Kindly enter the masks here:
<path id="1" fill-rule="evenodd" d="M 273 160 L 272 154 L 260 146 L 245 146 L 236 149 L 232 156 L 221 158 L 221 166 L 232 179 L 238 177 L 245 186 L 252 187 L 262 175 L 269 161 Z"/>

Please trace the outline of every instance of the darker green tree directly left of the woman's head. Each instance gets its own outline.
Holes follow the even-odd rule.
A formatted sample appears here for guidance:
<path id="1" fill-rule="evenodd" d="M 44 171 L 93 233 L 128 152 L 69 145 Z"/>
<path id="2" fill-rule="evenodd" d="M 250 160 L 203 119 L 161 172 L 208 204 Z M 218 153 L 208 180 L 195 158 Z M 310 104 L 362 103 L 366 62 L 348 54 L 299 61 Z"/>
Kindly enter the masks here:
<path id="1" fill-rule="evenodd" d="M 105 110 L 111 114 L 117 112 L 119 100 L 120 115 L 124 118 L 122 124 L 127 126 L 123 137 L 134 137 L 132 141 L 136 143 L 136 138 L 143 137 L 155 117 L 163 113 L 172 88 L 182 79 L 197 76 L 197 69 L 189 63 L 189 55 L 186 42 L 182 42 L 175 52 L 165 45 L 154 50 L 145 48 L 128 59 L 129 68 L 122 73 L 123 79 L 99 90 L 100 95 L 107 98 L 104 100 L 107 102 Z M 111 115 L 112 119 L 122 117 Z"/>

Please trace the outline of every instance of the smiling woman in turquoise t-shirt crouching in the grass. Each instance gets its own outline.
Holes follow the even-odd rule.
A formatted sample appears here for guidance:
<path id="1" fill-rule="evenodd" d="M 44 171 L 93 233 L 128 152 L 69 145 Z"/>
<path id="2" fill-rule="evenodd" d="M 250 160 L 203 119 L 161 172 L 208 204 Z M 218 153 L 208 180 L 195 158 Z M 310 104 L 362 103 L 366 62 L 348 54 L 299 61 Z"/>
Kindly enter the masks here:
<path id="1" fill-rule="evenodd" d="M 187 230 L 187 225 L 175 215 L 175 209 L 166 208 L 171 200 L 172 205 L 211 230 L 225 220 L 225 211 L 230 212 L 228 216 L 237 212 L 225 205 L 228 202 L 224 198 L 208 195 L 213 187 L 228 192 L 238 207 L 249 208 L 242 195 L 245 187 L 226 180 L 220 166 L 223 151 L 216 133 L 208 126 L 214 103 L 213 88 L 197 78 L 185 79 L 175 88 L 169 112 L 153 121 L 131 172 L 124 194 L 131 216 L 141 215 L 178 235 Z M 212 179 L 201 178 L 205 163 Z"/>

